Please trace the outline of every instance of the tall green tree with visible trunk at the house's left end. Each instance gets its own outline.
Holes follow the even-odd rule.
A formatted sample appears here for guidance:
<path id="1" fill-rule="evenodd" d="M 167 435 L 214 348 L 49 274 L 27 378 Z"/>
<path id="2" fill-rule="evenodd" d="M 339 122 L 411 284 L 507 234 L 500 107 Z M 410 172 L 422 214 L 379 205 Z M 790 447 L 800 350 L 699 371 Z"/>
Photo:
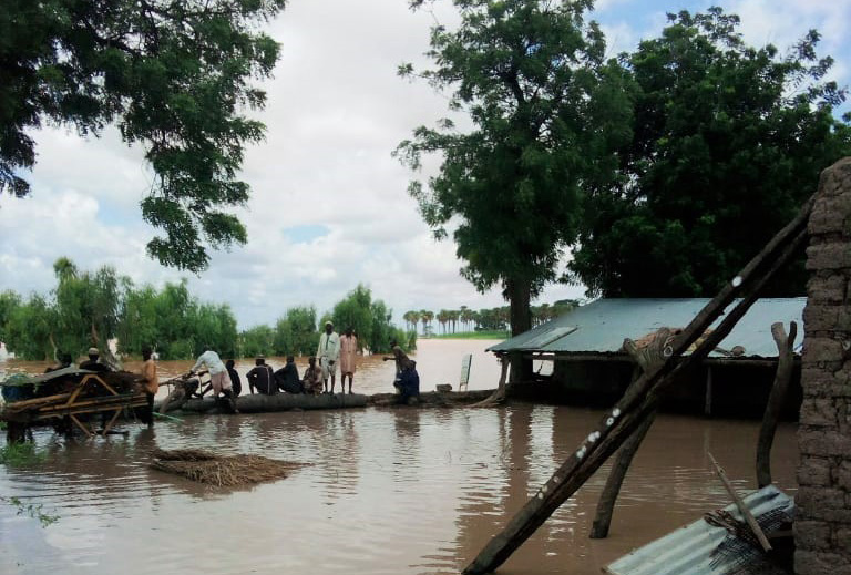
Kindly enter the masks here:
<path id="1" fill-rule="evenodd" d="M 396 154 L 413 170 L 423 154 L 442 154 L 438 175 L 410 193 L 437 237 L 452 232 L 461 274 L 480 291 L 503 288 L 520 333 L 575 238 L 583 186 L 613 173 L 611 152 L 628 135 L 627 91 L 598 27 L 584 21 L 591 0 L 453 4 L 459 27 L 432 29 L 434 68 L 400 73 L 448 92 L 466 116 L 459 125 L 472 127 L 418 127 Z"/>

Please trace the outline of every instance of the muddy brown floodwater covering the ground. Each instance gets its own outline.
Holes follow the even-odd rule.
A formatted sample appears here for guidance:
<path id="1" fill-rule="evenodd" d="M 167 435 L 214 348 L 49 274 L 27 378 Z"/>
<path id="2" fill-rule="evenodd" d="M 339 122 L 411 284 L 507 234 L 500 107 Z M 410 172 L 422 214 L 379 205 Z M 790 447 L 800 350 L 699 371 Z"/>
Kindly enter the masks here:
<path id="1" fill-rule="evenodd" d="M 418 367 L 450 382 L 460 369 L 455 356 L 469 350 L 470 388 L 493 387 L 499 366 L 483 367 L 486 345 L 421 342 Z M 372 363 L 372 376 L 366 367 L 356 376 L 356 391 L 389 387 L 390 362 Z M 476 368 L 480 377 L 490 369 L 492 379 L 480 381 Z M 161 366 L 171 369 L 180 373 L 186 366 Z M 594 410 L 530 404 L 367 408 L 187 417 L 158 421 L 152 431 L 125 425 L 126 437 L 93 440 L 38 431 L 47 461 L 0 465 L 0 495 L 41 505 L 60 520 L 42 527 L 0 503 L 0 573 L 459 573 L 599 418 Z M 753 489 L 758 427 L 659 415 L 626 478 L 607 540 L 591 541 L 587 533 L 608 465 L 498 573 L 598 574 L 632 548 L 727 505 L 706 453 L 739 491 Z M 275 483 L 221 490 L 148 469 L 153 448 L 254 453 L 307 465 Z M 794 427 L 781 424 L 773 474 L 790 494 L 797 460 Z"/>

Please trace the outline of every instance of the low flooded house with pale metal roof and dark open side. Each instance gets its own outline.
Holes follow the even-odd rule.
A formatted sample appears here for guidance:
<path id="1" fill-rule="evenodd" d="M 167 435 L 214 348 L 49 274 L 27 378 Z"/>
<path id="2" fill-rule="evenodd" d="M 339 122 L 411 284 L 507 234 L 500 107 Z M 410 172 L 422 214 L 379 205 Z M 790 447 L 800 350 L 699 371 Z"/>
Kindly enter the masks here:
<path id="1" fill-rule="evenodd" d="M 513 382 L 513 398 L 607 407 L 623 394 L 633 377 L 634 364 L 623 348 L 624 339 L 640 341 L 663 327 L 684 328 L 709 301 L 598 299 L 492 346 L 489 351 L 535 361 L 539 374 L 532 381 Z M 791 321 L 799 326 L 799 353 L 806 304 L 806 297 L 757 300 L 700 368 L 671 388 L 663 409 L 761 415 L 778 358 L 771 325 L 782 322 L 787 332 Z M 543 372 L 551 373 L 540 376 Z M 788 403 L 786 415 L 791 418 L 800 404 L 800 361 L 796 361 Z"/>

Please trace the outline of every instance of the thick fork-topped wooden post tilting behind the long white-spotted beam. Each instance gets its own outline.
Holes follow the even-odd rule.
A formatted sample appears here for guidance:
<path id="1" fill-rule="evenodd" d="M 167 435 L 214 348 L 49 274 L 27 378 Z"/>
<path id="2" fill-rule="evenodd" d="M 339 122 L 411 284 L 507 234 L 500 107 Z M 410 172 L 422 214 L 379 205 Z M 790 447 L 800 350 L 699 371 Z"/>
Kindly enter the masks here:
<path id="1" fill-rule="evenodd" d="M 665 361 L 664 350 L 670 339 L 670 330 L 663 328 L 658 330 L 653 340 L 642 350 L 629 338 L 624 340 L 624 350 L 629 353 L 633 361 L 636 363 L 636 378 L 644 371 L 654 369 L 657 364 Z M 642 424 L 636 429 L 629 439 L 624 442 L 624 445 L 617 452 L 617 459 L 612 465 L 612 470 L 608 472 L 606 479 L 606 485 L 599 494 L 599 501 L 597 502 L 597 514 L 594 517 L 594 522 L 591 526 L 591 534 L 588 537 L 592 540 L 602 540 L 608 536 L 608 527 L 612 525 L 612 515 L 615 511 L 615 502 L 617 495 L 621 493 L 621 486 L 624 484 L 626 472 L 629 470 L 629 465 L 633 463 L 638 448 L 642 445 L 647 431 L 649 431 L 653 421 L 656 419 L 656 412 L 652 412 Z"/>

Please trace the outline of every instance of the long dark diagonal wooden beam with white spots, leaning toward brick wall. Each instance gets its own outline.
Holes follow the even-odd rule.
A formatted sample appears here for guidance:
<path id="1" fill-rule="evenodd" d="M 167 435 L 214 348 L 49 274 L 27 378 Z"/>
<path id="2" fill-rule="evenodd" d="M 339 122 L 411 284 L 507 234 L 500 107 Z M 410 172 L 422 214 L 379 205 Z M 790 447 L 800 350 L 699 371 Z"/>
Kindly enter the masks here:
<path id="1" fill-rule="evenodd" d="M 617 404 L 604 415 L 597 429 L 511 518 L 505 528 L 495 535 L 464 568 L 465 575 L 490 573 L 502 565 L 567 497 L 599 469 L 603 462 L 637 429 L 642 420 L 656 409 L 662 389 L 676 381 L 677 377 L 698 361 L 703 361 L 709 351 L 727 337 L 736 322 L 757 300 L 759 291 L 768 280 L 803 246 L 813 201 L 814 196 L 803 205 L 798 216 L 771 238 L 740 274 L 695 316 L 683 332 L 674 338 L 670 355 L 666 352 L 666 361 L 642 374 L 627 389 Z M 720 325 L 690 356 L 675 366 L 671 358 L 678 358 L 697 341 L 746 288 L 752 289 L 724 317 Z"/>

